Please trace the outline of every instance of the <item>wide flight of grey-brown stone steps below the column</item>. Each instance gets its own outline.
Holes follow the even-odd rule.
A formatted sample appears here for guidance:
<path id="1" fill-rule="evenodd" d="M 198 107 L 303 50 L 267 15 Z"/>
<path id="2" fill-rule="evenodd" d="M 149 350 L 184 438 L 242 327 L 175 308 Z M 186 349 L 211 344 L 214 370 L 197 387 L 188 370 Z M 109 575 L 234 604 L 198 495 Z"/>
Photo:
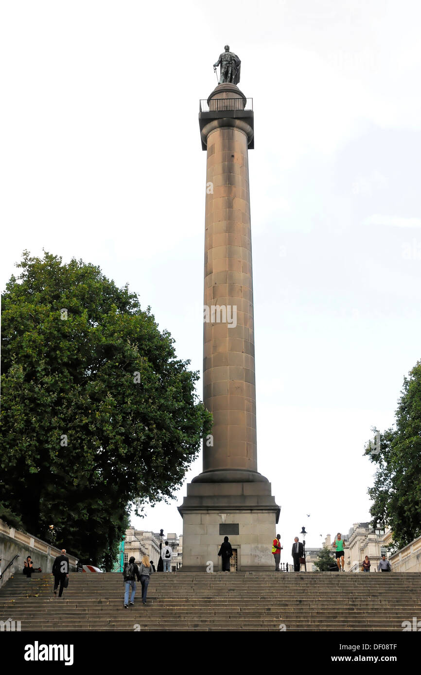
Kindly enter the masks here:
<path id="1" fill-rule="evenodd" d="M 121 574 L 70 574 L 61 598 L 51 574 L 19 574 L 0 590 L 0 620 L 21 630 L 401 631 L 421 619 L 418 573 L 157 573 L 146 605 L 139 583 L 134 607 L 123 595 Z"/>

